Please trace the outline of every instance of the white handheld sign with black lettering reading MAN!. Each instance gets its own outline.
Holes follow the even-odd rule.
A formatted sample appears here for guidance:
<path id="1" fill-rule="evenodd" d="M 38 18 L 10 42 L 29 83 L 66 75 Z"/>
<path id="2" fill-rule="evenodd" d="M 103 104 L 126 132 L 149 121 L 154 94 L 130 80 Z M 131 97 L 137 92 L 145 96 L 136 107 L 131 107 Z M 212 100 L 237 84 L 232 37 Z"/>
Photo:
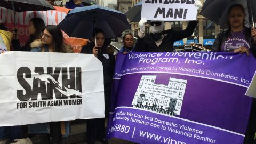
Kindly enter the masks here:
<path id="1" fill-rule="evenodd" d="M 142 0 L 141 18 L 163 21 L 196 20 L 196 0 Z"/>

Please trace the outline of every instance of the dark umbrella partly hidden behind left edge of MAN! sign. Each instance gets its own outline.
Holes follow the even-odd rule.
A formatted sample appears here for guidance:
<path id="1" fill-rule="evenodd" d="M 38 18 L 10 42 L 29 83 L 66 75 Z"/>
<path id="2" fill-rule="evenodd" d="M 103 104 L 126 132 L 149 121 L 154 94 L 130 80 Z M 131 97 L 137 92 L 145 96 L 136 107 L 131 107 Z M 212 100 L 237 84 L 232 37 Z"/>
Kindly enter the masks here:
<path id="1" fill-rule="evenodd" d="M 142 5 L 142 1 L 140 1 L 139 3 L 137 3 L 136 5 L 134 5 L 132 7 L 132 9 L 130 9 L 129 11 L 127 11 L 125 13 L 126 17 L 132 21 L 132 22 L 139 22 L 141 19 L 141 5 Z"/>

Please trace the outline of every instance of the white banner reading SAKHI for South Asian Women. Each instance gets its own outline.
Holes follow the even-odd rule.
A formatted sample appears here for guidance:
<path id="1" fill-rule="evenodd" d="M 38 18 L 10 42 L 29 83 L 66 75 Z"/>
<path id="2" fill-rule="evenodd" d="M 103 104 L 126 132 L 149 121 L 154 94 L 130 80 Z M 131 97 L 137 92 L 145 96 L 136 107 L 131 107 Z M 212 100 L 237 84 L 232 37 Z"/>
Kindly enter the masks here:
<path id="1" fill-rule="evenodd" d="M 5 52 L 0 66 L 0 126 L 105 116 L 93 54 Z"/>

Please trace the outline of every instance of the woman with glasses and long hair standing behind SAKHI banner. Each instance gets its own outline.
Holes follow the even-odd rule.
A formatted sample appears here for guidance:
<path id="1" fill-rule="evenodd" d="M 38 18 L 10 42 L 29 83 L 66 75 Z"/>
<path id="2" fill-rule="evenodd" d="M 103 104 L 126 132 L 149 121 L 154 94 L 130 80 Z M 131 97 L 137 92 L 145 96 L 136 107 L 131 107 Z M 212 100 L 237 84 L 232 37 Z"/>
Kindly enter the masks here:
<path id="1" fill-rule="evenodd" d="M 45 26 L 41 33 L 41 39 L 35 40 L 30 44 L 31 52 L 73 52 L 71 46 L 64 43 L 64 38 L 61 29 L 55 25 Z M 39 138 L 41 143 L 50 143 L 50 137 L 54 144 L 61 143 L 61 122 L 49 122 L 30 124 L 28 126 L 29 133 L 40 133 Z M 69 123 L 65 122 L 65 136 L 69 132 Z M 50 135 L 49 135 L 50 133 Z"/>

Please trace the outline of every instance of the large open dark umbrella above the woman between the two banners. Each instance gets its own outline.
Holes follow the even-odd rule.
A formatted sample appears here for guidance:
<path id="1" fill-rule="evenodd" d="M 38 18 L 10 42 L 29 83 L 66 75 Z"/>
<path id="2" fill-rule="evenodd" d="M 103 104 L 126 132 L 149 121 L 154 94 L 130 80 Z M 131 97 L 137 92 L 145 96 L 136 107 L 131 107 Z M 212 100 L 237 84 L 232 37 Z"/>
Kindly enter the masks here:
<path id="1" fill-rule="evenodd" d="M 92 38 L 95 28 L 102 29 L 105 38 L 115 38 L 130 27 L 125 14 L 99 5 L 76 7 L 58 26 L 70 37 L 86 39 Z"/>

